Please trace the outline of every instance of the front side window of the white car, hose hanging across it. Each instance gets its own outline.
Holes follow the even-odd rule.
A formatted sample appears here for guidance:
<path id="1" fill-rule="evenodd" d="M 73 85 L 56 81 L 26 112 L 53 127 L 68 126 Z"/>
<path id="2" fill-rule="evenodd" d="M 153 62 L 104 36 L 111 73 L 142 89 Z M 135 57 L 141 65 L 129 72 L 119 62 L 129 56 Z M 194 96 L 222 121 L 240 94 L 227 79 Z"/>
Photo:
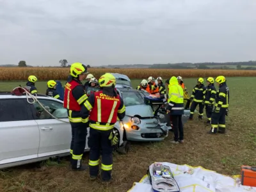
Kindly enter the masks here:
<path id="1" fill-rule="evenodd" d="M 44 106 L 56 118 L 68 118 L 67 109 L 63 108 L 63 104 L 54 100 L 38 99 Z M 36 117 L 38 119 L 51 119 L 53 118 L 47 113 L 38 102 L 35 102 L 34 107 L 36 109 Z"/>

